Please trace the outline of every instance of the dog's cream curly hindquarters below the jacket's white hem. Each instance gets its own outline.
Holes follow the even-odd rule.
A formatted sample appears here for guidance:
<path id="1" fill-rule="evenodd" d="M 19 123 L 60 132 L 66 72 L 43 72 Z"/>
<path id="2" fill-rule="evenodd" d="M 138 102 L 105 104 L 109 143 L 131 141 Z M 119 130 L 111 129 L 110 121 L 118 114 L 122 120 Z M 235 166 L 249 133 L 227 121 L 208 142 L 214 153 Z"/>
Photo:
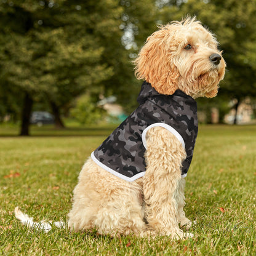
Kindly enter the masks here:
<path id="1" fill-rule="evenodd" d="M 96 228 L 99 234 L 140 236 L 146 229 L 141 179 L 126 182 L 89 159 L 74 189 L 68 226 L 73 231 Z"/>

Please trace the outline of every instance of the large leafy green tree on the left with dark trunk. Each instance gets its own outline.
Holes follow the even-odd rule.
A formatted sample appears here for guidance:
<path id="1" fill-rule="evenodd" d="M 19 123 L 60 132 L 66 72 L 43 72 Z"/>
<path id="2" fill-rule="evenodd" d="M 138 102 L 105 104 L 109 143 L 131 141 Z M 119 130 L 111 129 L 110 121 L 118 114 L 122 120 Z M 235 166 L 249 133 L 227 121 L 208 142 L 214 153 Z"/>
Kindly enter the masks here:
<path id="1" fill-rule="evenodd" d="M 113 26 L 108 33 L 117 30 L 118 5 L 114 0 L 97 5 L 65 0 L 1 2 L 1 87 L 8 84 L 23 92 L 26 116 L 21 135 L 28 135 L 34 100 L 47 98 L 56 116 L 86 89 L 97 94 L 102 90 L 101 82 L 113 75 L 113 67 L 101 61 L 105 49 L 100 33 L 106 33 L 109 23 Z"/>

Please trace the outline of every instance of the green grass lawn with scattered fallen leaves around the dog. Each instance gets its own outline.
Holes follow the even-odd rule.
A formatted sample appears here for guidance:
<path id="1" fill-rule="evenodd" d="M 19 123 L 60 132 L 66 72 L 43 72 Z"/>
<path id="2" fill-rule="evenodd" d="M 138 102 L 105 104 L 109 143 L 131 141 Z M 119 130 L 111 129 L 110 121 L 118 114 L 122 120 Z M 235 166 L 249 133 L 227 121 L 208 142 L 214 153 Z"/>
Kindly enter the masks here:
<path id="1" fill-rule="evenodd" d="M 33 127 L 25 138 L 0 127 L 0 255 L 256 255 L 256 126 L 199 127 L 185 191 L 186 215 L 198 222 L 193 239 L 22 226 L 15 206 L 36 221 L 65 219 L 83 162 L 111 130 Z"/>

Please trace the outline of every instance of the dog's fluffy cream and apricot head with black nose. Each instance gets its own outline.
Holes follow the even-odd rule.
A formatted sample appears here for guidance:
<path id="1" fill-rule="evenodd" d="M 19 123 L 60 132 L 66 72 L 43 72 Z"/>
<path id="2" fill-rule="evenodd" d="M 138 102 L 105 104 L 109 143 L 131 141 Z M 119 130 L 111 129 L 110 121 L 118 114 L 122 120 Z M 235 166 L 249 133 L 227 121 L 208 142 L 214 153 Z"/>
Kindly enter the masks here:
<path id="1" fill-rule="evenodd" d="M 180 89 L 193 98 L 215 97 L 226 67 L 217 46 L 195 18 L 172 22 L 148 37 L 134 62 L 135 74 L 160 94 Z"/>

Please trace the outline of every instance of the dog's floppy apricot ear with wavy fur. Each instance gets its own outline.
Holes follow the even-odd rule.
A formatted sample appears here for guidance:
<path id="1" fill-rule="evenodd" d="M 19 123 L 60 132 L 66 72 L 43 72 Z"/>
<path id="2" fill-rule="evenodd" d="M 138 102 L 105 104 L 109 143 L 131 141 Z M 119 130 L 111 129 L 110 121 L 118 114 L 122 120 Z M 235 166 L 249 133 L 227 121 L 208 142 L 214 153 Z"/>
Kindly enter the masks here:
<path id="1" fill-rule="evenodd" d="M 170 31 L 161 28 L 146 40 L 135 63 L 137 79 L 150 82 L 159 94 L 174 94 L 180 74 L 172 62 Z"/>

